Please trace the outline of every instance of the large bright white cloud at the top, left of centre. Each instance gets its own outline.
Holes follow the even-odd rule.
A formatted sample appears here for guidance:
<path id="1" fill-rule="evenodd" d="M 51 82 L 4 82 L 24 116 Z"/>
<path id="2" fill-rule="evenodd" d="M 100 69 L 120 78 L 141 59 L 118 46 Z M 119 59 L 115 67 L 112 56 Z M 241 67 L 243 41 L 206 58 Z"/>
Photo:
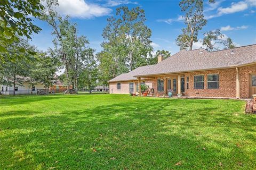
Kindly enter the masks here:
<path id="1" fill-rule="evenodd" d="M 62 15 L 85 19 L 109 15 L 112 12 L 111 8 L 102 7 L 98 4 L 89 4 L 84 0 L 59 0 L 59 6 L 56 8 Z"/>

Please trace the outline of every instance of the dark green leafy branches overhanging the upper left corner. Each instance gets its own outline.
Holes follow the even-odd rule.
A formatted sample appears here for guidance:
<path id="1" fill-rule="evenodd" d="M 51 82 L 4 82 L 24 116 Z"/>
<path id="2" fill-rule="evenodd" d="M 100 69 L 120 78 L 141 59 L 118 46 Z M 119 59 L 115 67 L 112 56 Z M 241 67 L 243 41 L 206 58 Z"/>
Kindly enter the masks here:
<path id="1" fill-rule="evenodd" d="M 3 57 L 14 60 L 14 57 L 7 52 L 7 48 L 18 40 L 17 35 L 30 39 L 32 33 L 38 33 L 41 30 L 33 24 L 30 16 L 40 16 L 43 8 L 40 0 L 0 1 L 0 61 Z M 20 50 L 23 51 L 25 48 L 21 47 Z"/>

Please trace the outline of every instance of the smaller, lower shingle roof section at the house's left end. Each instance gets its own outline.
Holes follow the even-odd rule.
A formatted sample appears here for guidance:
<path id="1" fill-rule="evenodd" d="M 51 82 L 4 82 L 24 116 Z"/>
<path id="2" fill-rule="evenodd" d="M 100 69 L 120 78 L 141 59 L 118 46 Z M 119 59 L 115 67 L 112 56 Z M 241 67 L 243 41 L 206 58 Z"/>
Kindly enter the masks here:
<path id="1" fill-rule="evenodd" d="M 134 70 L 130 71 L 129 73 L 120 74 L 117 77 L 115 77 L 114 79 L 109 80 L 108 82 L 137 80 L 134 77 L 135 75 L 137 75 L 147 69 L 150 69 L 150 67 L 152 67 L 152 66 L 154 66 L 154 65 L 146 65 L 146 66 L 138 67 L 137 69 L 134 69 Z"/>

